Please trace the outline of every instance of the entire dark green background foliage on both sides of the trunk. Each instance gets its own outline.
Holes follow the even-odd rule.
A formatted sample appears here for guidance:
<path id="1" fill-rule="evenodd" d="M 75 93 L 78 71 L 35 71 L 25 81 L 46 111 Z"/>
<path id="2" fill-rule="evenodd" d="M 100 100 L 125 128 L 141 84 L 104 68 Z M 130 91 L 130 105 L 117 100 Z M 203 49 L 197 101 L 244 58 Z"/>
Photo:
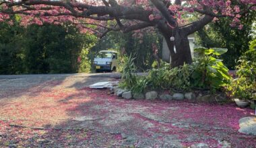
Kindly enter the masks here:
<path id="1" fill-rule="evenodd" d="M 255 15 L 248 13 L 241 19 L 241 30 L 230 28 L 228 18 L 211 23 L 197 32 L 197 44 L 228 48 L 222 59 L 228 68 L 234 69 L 238 57 L 248 50 L 249 41 L 255 38 Z M 32 24 L 24 28 L 20 26 L 18 15 L 13 15 L 12 19 L 13 24 L 0 22 L 0 74 L 90 72 L 96 52 L 108 49 L 135 55 L 136 67 L 145 71 L 156 66 L 152 44 L 158 48 L 158 57 L 162 55 L 159 32 L 108 32 L 99 39 L 93 34 L 80 33 L 70 24 Z"/>

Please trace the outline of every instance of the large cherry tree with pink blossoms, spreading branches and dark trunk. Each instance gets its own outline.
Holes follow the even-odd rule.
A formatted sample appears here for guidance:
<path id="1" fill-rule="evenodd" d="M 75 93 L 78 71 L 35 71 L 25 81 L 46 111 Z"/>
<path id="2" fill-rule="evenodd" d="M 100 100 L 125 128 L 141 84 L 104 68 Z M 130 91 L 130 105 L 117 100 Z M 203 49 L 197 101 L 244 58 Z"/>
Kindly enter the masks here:
<path id="1" fill-rule="evenodd" d="M 230 17 L 230 26 L 243 28 L 239 19 L 255 8 L 256 0 L 0 0 L 0 21 L 19 14 L 24 26 L 71 22 L 100 36 L 158 30 L 168 44 L 172 67 L 177 67 L 192 62 L 189 34 L 220 17 Z M 186 19 L 192 14 L 197 20 Z"/>

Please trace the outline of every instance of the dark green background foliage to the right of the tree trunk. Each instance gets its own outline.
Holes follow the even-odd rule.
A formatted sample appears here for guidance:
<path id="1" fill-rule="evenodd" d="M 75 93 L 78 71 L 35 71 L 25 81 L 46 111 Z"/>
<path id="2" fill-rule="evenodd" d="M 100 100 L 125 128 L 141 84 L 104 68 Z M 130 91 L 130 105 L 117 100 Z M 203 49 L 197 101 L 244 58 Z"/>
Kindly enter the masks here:
<path id="1" fill-rule="evenodd" d="M 243 14 L 241 17 L 243 28 L 230 27 L 232 20 L 220 18 L 197 32 L 197 44 L 207 48 L 228 48 L 227 54 L 222 56 L 223 63 L 228 68 L 235 69 L 236 61 L 248 50 L 249 42 L 253 39 L 255 18 L 255 11 Z"/>

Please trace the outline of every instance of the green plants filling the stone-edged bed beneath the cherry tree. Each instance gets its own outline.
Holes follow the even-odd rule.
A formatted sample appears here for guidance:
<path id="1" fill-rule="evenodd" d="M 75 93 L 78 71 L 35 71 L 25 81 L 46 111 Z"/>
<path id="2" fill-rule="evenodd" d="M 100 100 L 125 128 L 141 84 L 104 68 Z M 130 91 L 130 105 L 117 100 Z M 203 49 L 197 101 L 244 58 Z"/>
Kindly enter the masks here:
<path id="1" fill-rule="evenodd" d="M 122 77 L 121 87 L 141 93 L 146 90 L 187 91 L 189 89 L 218 90 L 230 83 L 228 68 L 222 60 L 216 57 L 224 54 L 224 48 L 198 48 L 198 58 L 191 65 L 170 68 L 169 64 L 162 64 L 160 69 L 152 69 L 147 76 L 133 77 L 127 83 L 127 76 Z M 132 61 L 125 65 L 133 65 Z M 134 68 L 133 68 L 134 69 Z M 133 69 L 123 69 L 125 75 Z"/>

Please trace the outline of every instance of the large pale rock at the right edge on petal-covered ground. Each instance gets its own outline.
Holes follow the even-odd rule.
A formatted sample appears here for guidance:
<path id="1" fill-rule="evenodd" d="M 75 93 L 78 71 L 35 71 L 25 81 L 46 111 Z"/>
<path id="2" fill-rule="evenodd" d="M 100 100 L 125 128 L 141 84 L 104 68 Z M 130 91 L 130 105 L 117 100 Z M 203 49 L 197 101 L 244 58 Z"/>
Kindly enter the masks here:
<path id="1" fill-rule="evenodd" d="M 247 116 L 245 118 L 241 118 L 239 120 L 239 126 L 240 126 L 240 129 L 238 131 L 240 133 L 256 136 L 256 117 L 255 116 Z"/>

